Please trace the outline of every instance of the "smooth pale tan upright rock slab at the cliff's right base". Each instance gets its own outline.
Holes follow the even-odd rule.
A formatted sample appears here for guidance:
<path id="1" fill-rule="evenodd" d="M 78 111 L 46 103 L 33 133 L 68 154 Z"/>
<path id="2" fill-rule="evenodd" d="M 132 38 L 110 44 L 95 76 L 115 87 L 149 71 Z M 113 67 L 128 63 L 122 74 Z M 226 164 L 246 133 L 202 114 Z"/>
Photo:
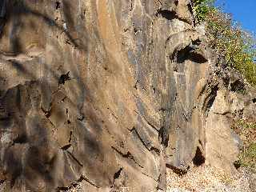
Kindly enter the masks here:
<path id="1" fill-rule="evenodd" d="M 232 137 L 229 119 L 223 115 L 230 113 L 226 96 L 223 90 L 218 90 L 206 118 L 206 161 L 212 166 L 231 169 L 229 171 L 232 173 L 235 171 L 233 162 L 239 151 Z"/>

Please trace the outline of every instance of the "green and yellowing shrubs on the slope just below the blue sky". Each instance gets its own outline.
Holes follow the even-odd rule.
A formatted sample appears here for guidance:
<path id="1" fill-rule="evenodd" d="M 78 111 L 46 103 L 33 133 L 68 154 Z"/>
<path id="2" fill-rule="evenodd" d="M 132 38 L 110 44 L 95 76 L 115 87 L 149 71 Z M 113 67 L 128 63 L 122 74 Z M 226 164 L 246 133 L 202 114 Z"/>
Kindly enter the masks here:
<path id="1" fill-rule="evenodd" d="M 256 85 L 256 41 L 252 34 L 242 30 L 230 14 L 214 7 L 212 0 L 194 0 L 198 22 L 206 22 L 206 35 L 216 51 L 220 64 L 230 66 Z"/>

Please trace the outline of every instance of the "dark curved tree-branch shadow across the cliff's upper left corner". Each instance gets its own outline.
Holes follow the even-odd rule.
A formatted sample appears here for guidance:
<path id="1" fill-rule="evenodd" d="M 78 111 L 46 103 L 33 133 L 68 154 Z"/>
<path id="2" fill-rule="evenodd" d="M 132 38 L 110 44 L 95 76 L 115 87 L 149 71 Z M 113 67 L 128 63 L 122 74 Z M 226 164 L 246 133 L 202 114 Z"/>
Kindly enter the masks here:
<path id="1" fill-rule="evenodd" d="M 6 2 L 6 1 L 3 1 Z M 41 3 L 41 2 L 40 2 Z M 38 3 L 38 4 L 40 4 Z M 43 25 L 46 27 L 54 27 L 56 30 L 59 30 L 60 33 L 66 34 L 67 42 L 70 43 L 70 45 L 74 46 L 74 48 L 78 50 L 86 51 L 86 36 L 82 35 L 82 33 L 75 33 L 74 30 L 82 31 L 83 34 L 85 33 L 86 29 L 82 26 L 79 27 L 79 29 L 74 29 L 74 19 L 71 17 L 70 9 L 68 8 L 70 6 L 69 2 L 63 2 L 63 14 L 65 15 L 65 18 L 69 23 L 73 23 L 72 26 L 68 30 L 65 30 L 63 26 L 56 22 L 54 18 L 50 18 L 47 14 L 42 14 L 41 10 L 36 10 L 31 7 L 34 7 L 33 2 L 26 2 L 26 1 L 9 1 L 6 2 L 6 14 L 4 17 L 0 17 L 0 26 L 6 26 L 7 24 L 10 24 L 10 34 L 9 34 L 9 40 L 10 40 L 10 54 L 21 54 L 24 52 L 24 48 L 22 45 L 22 42 L 24 42 L 23 39 L 20 39 L 19 36 L 22 33 L 22 30 L 25 30 L 27 25 L 26 18 L 28 18 L 28 21 L 31 20 L 31 17 L 34 19 L 42 20 Z M 52 4 L 52 3 L 48 3 Z M 1 6 L 1 5 L 0 5 Z M 1 8 L 1 7 L 0 7 Z M 58 8 L 60 6 L 58 5 Z M 1 10 L 1 9 L 0 9 Z M 2 8 L 3 12 L 4 8 Z M 54 6 L 49 7 L 49 12 L 54 11 Z M 1 13 L 1 12 L 0 12 Z M 2 19 L 2 22 L 1 22 Z M 66 23 L 66 22 L 64 22 Z M 30 22 L 30 26 L 34 28 L 34 30 L 38 30 L 38 23 Z M 42 26 L 41 26 L 42 27 Z M 40 27 L 40 28 L 41 28 Z M 39 29 L 40 29 L 39 28 Z M 40 29 L 43 30 L 43 29 Z M 1 28 L 0 28 L 1 31 Z M 73 37 L 75 36 L 75 38 Z M 42 42 L 43 44 L 44 42 Z"/>

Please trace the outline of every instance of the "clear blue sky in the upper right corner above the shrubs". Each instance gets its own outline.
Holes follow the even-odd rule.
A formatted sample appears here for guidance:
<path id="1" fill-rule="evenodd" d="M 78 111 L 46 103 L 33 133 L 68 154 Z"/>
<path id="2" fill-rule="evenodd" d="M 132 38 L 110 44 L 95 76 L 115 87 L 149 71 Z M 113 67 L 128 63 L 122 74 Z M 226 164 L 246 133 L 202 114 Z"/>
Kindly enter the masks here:
<path id="1" fill-rule="evenodd" d="M 232 14 L 243 29 L 256 33 L 256 0 L 217 0 L 216 5 Z"/>

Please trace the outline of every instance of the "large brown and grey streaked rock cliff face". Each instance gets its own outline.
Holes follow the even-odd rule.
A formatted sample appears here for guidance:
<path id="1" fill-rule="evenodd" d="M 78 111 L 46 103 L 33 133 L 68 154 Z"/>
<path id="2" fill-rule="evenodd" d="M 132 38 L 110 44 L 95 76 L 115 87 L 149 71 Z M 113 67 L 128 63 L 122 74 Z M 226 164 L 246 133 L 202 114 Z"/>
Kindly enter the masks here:
<path id="1" fill-rule="evenodd" d="M 230 114 L 254 96 L 241 104 L 239 80 L 217 75 L 190 1 L 0 6 L 0 191 L 165 190 L 166 167 L 205 163 L 235 173 Z"/>

